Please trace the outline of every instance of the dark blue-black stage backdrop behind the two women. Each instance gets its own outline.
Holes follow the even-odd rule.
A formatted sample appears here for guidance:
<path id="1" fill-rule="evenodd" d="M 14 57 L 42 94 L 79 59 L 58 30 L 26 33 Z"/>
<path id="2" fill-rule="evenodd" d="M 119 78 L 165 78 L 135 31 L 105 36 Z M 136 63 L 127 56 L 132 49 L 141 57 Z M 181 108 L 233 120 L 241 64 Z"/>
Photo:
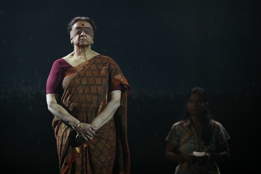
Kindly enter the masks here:
<path id="1" fill-rule="evenodd" d="M 131 86 L 131 173 L 174 173 L 165 138 L 196 86 L 231 136 L 221 173 L 258 173 L 260 8 L 258 0 L 1 1 L 1 166 L 58 174 L 45 84 L 53 61 L 73 51 L 67 24 L 88 16 L 97 24 L 92 49 L 113 58 Z"/>

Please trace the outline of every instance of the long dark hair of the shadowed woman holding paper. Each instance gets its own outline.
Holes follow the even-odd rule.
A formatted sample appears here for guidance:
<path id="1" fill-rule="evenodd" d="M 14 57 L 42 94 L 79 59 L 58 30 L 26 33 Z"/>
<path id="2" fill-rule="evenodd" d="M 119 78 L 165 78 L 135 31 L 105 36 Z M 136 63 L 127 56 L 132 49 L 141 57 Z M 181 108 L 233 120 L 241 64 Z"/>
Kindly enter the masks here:
<path id="1" fill-rule="evenodd" d="M 202 134 L 201 134 L 201 136 L 202 136 L 202 140 L 203 140 L 204 144 L 208 145 L 210 143 L 210 137 L 211 137 L 211 133 L 212 133 L 210 119 L 213 119 L 213 116 L 210 114 L 210 111 L 208 108 L 208 102 L 207 102 L 208 95 L 203 88 L 195 87 L 188 92 L 187 101 L 186 101 L 186 112 L 184 114 L 183 120 L 190 118 L 190 113 L 188 112 L 187 104 L 188 104 L 188 100 L 190 99 L 190 96 L 192 94 L 198 94 L 200 96 L 200 98 L 203 100 L 203 102 L 205 103 L 206 108 L 205 108 L 205 112 L 203 113 L 204 116 L 202 117 L 202 131 L 201 131 Z"/>

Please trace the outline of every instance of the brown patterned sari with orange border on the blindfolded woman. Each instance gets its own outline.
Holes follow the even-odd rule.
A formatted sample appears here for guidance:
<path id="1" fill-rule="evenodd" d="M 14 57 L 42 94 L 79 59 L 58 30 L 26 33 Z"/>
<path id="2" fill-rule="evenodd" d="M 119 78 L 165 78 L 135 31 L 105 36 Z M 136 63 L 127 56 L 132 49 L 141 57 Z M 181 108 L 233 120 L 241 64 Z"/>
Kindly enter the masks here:
<path id="1" fill-rule="evenodd" d="M 107 104 L 108 94 L 122 84 L 121 106 L 114 117 L 82 144 L 76 131 L 54 118 L 60 173 L 124 173 L 130 171 L 127 143 L 127 95 L 130 86 L 118 65 L 97 55 L 64 73 L 61 105 L 83 123 L 90 123 Z"/>

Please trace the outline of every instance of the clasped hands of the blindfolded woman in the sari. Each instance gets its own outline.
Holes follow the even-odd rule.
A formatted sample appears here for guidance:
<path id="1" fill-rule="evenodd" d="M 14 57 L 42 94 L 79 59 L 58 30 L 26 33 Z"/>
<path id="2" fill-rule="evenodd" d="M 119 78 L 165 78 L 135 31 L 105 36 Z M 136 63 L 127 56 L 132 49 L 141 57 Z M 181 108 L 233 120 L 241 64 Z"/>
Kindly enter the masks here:
<path id="1" fill-rule="evenodd" d="M 90 140 L 94 135 L 97 129 L 91 124 L 81 123 L 77 129 L 77 135 L 75 137 L 76 143 L 83 143 L 86 140 Z"/>

